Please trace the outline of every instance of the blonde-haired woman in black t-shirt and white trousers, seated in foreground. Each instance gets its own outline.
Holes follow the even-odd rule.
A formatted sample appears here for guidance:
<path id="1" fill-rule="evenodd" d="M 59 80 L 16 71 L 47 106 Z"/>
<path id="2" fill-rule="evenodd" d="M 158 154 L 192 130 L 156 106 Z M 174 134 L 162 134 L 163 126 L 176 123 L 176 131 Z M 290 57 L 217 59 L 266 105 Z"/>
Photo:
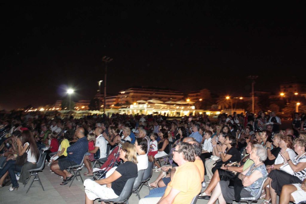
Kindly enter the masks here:
<path id="1" fill-rule="evenodd" d="M 85 203 L 93 204 L 97 198 L 118 198 L 128 179 L 137 176 L 136 147 L 130 143 L 123 143 L 120 159 L 124 162 L 107 178 L 101 180 L 84 181 Z"/>

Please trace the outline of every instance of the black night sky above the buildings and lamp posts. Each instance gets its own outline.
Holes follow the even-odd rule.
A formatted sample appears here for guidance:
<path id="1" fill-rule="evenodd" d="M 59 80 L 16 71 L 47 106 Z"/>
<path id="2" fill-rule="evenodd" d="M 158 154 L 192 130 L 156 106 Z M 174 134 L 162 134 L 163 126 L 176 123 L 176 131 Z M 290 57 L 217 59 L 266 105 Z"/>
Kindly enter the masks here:
<path id="1" fill-rule="evenodd" d="M 120 3 L 119 3 L 120 2 Z M 101 1 L 92 7 L 2 6 L 0 109 L 52 104 L 63 87 L 90 99 L 143 85 L 187 93 L 277 92 L 304 81 L 305 3 Z"/>

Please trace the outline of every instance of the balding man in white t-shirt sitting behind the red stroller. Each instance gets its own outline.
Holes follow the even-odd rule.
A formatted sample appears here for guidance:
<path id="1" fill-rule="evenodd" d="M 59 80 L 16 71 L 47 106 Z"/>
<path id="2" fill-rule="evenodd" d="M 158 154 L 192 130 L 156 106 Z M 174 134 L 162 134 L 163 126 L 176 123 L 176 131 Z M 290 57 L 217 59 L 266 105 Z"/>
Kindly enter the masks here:
<path id="1" fill-rule="evenodd" d="M 106 139 L 102 135 L 103 128 L 95 128 L 95 131 L 93 132 L 96 135 L 96 141 L 95 141 L 95 149 L 88 151 L 88 153 L 91 153 L 89 155 L 86 155 L 84 158 L 84 165 L 88 169 L 88 172 L 84 173 L 84 176 L 93 176 L 93 172 L 91 169 L 91 161 L 95 161 L 94 154 L 97 153 L 97 151 L 100 151 L 100 158 L 106 157 Z"/>

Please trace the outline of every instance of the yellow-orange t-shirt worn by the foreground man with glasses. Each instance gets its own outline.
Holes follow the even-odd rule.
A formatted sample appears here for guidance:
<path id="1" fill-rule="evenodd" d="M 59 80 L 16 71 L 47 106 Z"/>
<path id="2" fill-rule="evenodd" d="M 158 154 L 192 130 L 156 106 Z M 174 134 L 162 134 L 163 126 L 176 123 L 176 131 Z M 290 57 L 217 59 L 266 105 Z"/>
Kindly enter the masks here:
<path id="1" fill-rule="evenodd" d="M 179 166 L 174 173 L 173 180 L 168 184 L 165 196 L 171 188 L 181 191 L 174 199 L 174 204 L 191 203 L 193 197 L 198 195 L 202 189 L 201 174 L 194 162 L 186 162 Z"/>

